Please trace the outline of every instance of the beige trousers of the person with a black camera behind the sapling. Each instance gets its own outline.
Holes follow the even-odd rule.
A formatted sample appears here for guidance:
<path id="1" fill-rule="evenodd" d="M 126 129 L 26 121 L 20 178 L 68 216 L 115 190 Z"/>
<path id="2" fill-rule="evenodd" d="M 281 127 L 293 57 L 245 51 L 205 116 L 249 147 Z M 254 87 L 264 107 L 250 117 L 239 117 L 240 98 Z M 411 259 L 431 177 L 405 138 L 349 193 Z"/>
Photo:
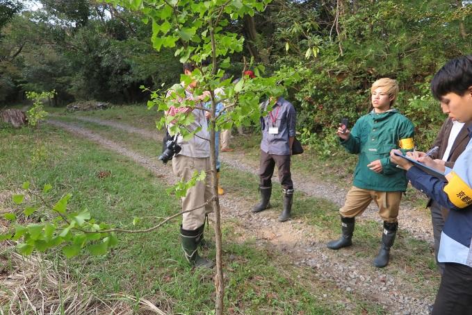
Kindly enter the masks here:
<path id="1" fill-rule="evenodd" d="M 188 157 L 177 155 L 172 159 L 172 170 L 174 175 L 180 180 L 189 180 L 194 171 L 206 171 L 206 178 L 203 181 L 197 181 L 195 186 L 187 190 L 185 197 L 182 197 L 182 211 L 193 209 L 204 204 L 211 199 L 211 173 L 209 157 Z M 205 205 L 182 215 L 182 228 L 184 230 L 197 230 L 203 225 L 205 215 L 213 212 L 211 204 Z"/>

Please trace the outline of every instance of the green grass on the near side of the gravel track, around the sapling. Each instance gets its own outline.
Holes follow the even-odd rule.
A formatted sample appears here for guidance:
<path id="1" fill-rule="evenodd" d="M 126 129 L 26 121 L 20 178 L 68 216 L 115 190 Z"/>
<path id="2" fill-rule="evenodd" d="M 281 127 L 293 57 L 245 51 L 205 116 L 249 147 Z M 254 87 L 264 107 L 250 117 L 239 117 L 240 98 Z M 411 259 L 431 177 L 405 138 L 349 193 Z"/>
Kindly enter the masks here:
<path id="1" fill-rule="evenodd" d="M 36 132 L 3 127 L 2 194 L 16 191 L 25 180 L 35 187 L 50 183 L 54 185 L 53 197 L 73 194 L 71 211 L 88 207 L 97 220 L 126 227 L 130 227 L 134 216 L 148 217 L 140 226 L 144 228 L 179 209 L 179 203 L 165 193 L 166 187 L 158 178 L 126 158 L 48 126 L 37 131 L 43 148 L 38 153 Z M 109 171 L 111 176 L 99 178 L 100 171 Z M 1 207 L 10 210 L 15 206 L 5 201 Z M 232 233 L 231 223 L 225 225 L 225 301 L 234 314 L 329 314 L 343 309 L 344 303 L 336 300 L 356 302 L 355 297 L 334 288 L 332 300 L 318 300 L 316 296 L 323 296 L 324 285 L 297 281 L 298 275 L 306 271 L 295 269 L 284 257 L 273 259 L 277 253 L 270 247 L 260 248 L 251 241 L 231 242 Z M 104 256 L 68 259 L 68 269 L 74 271 L 72 278 L 89 284 L 88 289 L 98 296 L 125 292 L 151 298 L 164 312 L 211 314 L 212 274 L 186 265 L 179 245 L 178 220 L 156 232 L 120 235 L 119 239 L 119 246 Z M 2 245 L 5 261 L 10 259 L 10 250 Z M 52 251 L 47 258 L 54 261 L 56 255 Z M 206 255 L 214 257 L 211 250 Z M 6 268 L 7 273 L 13 272 L 13 266 L 10 268 Z M 376 309 L 375 305 L 357 304 L 361 305 L 358 312 Z M 10 305 L 3 307 L 6 312 Z"/>

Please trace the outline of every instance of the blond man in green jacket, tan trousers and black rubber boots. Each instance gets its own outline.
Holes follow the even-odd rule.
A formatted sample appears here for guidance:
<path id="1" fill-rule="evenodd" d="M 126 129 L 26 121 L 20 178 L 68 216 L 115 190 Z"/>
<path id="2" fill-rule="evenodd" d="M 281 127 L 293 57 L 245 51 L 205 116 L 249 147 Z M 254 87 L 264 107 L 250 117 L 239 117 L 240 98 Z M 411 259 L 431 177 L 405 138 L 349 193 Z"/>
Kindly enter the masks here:
<path id="1" fill-rule="evenodd" d="M 340 126 L 336 134 L 346 151 L 359 155 L 354 171 L 352 188 L 345 198 L 341 214 L 342 235 L 329 241 L 328 248 L 339 249 L 352 245 L 355 217 L 375 201 L 384 220 L 382 245 L 374 265 L 382 268 L 389 264 L 390 248 L 398 229 L 398 209 L 402 193 L 407 189 L 405 171 L 390 162 L 389 151 L 414 148 L 412 121 L 391 108 L 398 96 L 398 83 L 381 78 L 371 87 L 373 110 L 356 121 L 352 130 Z"/>

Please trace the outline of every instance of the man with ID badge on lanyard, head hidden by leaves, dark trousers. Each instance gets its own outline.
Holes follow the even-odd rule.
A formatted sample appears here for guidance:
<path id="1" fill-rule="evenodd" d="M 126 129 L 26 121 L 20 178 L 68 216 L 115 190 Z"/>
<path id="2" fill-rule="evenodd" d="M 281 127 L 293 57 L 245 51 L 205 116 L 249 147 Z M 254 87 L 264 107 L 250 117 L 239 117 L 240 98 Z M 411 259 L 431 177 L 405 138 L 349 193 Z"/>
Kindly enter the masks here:
<path id="1" fill-rule="evenodd" d="M 262 104 L 266 112 L 270 99 Z M 292 145 L 295 139 L 296 113 L 292 103 L 282 96 L 277 98 L 272 110 L 261 117 L 261 158 L 259 167 L 259 192 L 261 202 L 252 208 L 252 212 L 261 212 L 270 208 L 272 194 L 272 175 L 277 164 L 279 182 L 284 194 L 284 210 L 279 221 L 290 219 L 293 201 L 293 182 L 290 173 Z"/>

